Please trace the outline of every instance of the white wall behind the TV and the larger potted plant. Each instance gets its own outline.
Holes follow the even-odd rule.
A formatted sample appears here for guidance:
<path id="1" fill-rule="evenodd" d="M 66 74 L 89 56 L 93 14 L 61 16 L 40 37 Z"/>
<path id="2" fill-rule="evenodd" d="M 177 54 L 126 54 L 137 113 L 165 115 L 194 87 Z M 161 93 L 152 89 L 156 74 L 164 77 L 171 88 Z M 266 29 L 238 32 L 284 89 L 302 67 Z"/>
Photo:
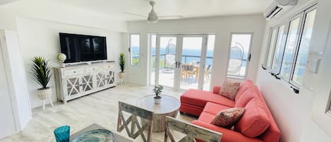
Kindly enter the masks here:
<path id="1" fill-rule="evenodd" d="M 109 60 L 116 60 L 121 49 L 121 33 L 96 28 L 87 28 L 77 25 L 53 23 L 31 18 L 17 18 L 17 28 L 20 44 L 23 51 L 25 69 L 29 71 L 30 59 L 42 56 L 49 59 L 53 66 L 57 66 L 56 54 L 61 51 L 59 45 L 59 32 L 76 33 L 83 35 L 97 35 L 107 37 L 107 56 Z M 36 89 L 40 88 L 28 72 L 28 88 L 32 107 L 42 105 L 37 98 Z M 53 89 L 52 100 L 56 101 L 54 76 L 49 83 Z"/>

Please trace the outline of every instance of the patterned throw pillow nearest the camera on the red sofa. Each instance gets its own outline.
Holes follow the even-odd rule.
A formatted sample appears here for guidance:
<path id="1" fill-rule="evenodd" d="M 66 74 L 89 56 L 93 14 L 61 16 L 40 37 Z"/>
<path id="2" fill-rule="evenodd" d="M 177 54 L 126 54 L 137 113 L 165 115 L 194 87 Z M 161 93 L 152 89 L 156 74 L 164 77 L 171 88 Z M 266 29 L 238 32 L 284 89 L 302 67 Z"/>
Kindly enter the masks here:
<path id="1" fill-rule="evenodd" d="M 243 107 L 234 107 L 227 110 L 222 110 L 216 114 L 215 119 L 212 120 L 213 125 L 222 126 L 226 129 L 231 129 L 239 119 L 243 116 L 243 112 L 245 112 L 245 108 Z"/>

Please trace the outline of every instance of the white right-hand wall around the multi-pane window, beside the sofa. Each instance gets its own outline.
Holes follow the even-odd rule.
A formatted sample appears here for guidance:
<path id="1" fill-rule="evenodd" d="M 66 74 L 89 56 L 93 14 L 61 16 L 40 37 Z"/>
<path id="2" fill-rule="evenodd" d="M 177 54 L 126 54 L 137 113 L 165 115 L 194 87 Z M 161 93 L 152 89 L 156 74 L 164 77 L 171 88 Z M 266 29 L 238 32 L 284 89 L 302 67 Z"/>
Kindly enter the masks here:
<path id="1" fill-rule="evenodd" d="M 329 1 L 329 3 L 327 4 L 326 1 Z M 311 51 L 319 51 L 325 46 L 327 35 L 327 26 L 325 25 L 330 23 L 330 20 L 327 20 L 330 17 L 330 0 L 320 0 L 318 2 L 318 11 L 316 13 L 313 37 L 311 40 Z M 289 20 L 289 17 L 294 16 L 295 13 L 302 11 L 313 3 L 313 1 L 309 0 L 299 0 L 298 5 L 287 14 L 281 16 L 279 19 L 267 22 L 265 26 L 263 47 L 261 49 L 260 63 L 263 63 L 267 56 L 267 40 L 270 35 L 270 28 L 283 21 Z M 327 23 L 325 23 L 326 20 Z M 305 82 L 311 82 L 311 85 L 309 85 L 308 88 L 314 88 L 315 85 L 325 83 L 315 83 L 314 78 L 315 76 L 311 73 L 305 74 Z M 280 138 L 281 142 L 331 141 L 330 136 L 327 136 L 327 134 L 320 129 L 315 122 L 313 122 L 313 119 L 311 119 L 312 102 L 315 99 L 315 95 L 317 95 L 317 88 L 315 88 L 314 91 L 311 91 L 308 88 L 301 86 L 299 95 L 295 94 L 288 83 L 275 79 L 275 77 L 270 76 L 268 71 L 262 69 L 258 70 L 256 83 L 259 85 L 260 90 L 265 96 L 265 100 L 275 117 L 280 131 L 282 132 Z"/>

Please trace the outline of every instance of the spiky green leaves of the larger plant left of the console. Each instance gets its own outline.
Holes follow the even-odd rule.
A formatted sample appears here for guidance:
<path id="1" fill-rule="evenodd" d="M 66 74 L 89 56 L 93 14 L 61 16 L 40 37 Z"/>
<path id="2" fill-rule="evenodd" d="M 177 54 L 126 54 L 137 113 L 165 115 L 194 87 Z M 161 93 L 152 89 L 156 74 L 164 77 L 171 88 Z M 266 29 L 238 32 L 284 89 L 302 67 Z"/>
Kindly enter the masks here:
<path id="1" fill-rule="evenodd" d="M 35 81 L 42 87 L 40 89 L 47 89 L 47 84 L 51 79 L 51 66 L 49 61 L 44 57 L 33 57 L 32 59 L 32 75 Z"/>

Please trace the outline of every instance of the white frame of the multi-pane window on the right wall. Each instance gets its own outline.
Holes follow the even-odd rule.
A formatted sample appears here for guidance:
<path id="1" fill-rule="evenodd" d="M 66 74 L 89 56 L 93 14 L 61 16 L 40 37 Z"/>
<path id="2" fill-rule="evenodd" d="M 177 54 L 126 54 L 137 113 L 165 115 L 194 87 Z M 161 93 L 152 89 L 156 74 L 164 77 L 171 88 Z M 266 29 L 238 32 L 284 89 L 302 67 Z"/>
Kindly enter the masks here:
<path id="1" fill-rule="evenodd" d="M 296 83 L 295 81 L 293 81 L 293 76 L 294 76 L 294 71 L 295 71 L 295 66 L 296 66 L 296 61 L 298 58 L 298 54 L 299 54 L 299 49 L 300 49 L 300 45 L 301 45 L 301 40 L 302 40 L 302 34 L 303 34 L 303 28 L 305 26 L 306 23 L 306 15 L 307 13 L 310 13 L 311 11 L 314 11 L 315 9 L 317 9 L 317 4 L 313 4 L 311 6 L 308 6 L 307 8 L 303 9 L 303 11 L 296 13 L 295 16 L 292 16 L 291 18 L 289 18 L 288 20 L 286 20 L 286 22 L 281 23 L 275 27 L 270 28 L 270 32 L 269 35 L 270 37 L 268 38 L 268 43 L 267 43 L 267 56 L 265 57 L 265 64 L 267 64 L 267 59 L 269 57 L 269 52 L 270 52 L 270 45 L 272 42 L 272 32 L 273 30 L 277 29 L 277 39 L 276 39 L 276 46 L 277 46 L 277 42 L 278 42 L 278 34 L 279 34 L 279 28 L 282 27 L 284 25 L 284 35 L 282 36 L 282 45 L 281 45 L 281 51 L 280 51 L 280 66 L 277 65 L 276 69 L 272 69 L 273 66 L 273 60 L 275 59 L 275 51 L 276 48 L 274 49 L 273 53 L 272 53 L 272 62 L 270 64 L 270 66 L 267 66 L 267 69 L 270 71 L 270 73 L 275 74 L 278 78 L 280 78 L 282 81 L 285 81 L 287 83 L 289 83 L 289 85 L 291 85 L 293 88 L 296 88 L 299 90 L 300 86 L 302 85 L 299 83 Z M 298 32 L 296 34 L 296 45 L 294 47 L 294 55 L 293 55 L 293 59 L 291 61 L 291 66 L 290 66 L 290 71 L 289 71 L 289 76 L 288 78 L 286 78 L 285 76 L 282 76 L 281 74 L 281 70 L 282 70 L 282 66 L 283 66 L 283 59 L 284 59 L 284 54 L 285 54 L 285 49 L 287 47 L 287 40 L 289 37 L 289 28 L 290 28 L 290 23 L 291 21 L 295 20 L 296 18 L 300 18 L 299 20 L 299 26 L 298 26 Z M 310 49 L 308 49 L 308 51 L 310 51 Z M 306 70 L 306 69 L 305 69 Z M 304 76 L 304 74 L 303 74 Z"/>

